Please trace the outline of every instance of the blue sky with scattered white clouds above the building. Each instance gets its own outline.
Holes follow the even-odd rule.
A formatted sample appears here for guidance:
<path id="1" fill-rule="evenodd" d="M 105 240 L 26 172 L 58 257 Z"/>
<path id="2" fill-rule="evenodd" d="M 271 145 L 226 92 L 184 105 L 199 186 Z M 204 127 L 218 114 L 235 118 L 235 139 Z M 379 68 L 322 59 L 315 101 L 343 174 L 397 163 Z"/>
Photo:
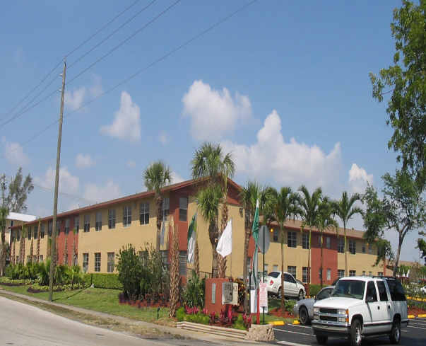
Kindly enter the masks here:
<path id="1" fill-rule="evenodd" d="M 66 80 L 174 4 L 150 2 L 137 1 L 70 54 Z M 372 99 L 368 73 L 391 64 L 389 24 L 400 1 L 259 0 L 148 67 L 247 2 L 182 0 L 67 84 L 61 211 L 143 190 L 142 171 L 158 158 L 170 165 L 176 181 L 187 179 L 191 156 L 206 139 L 232 151 L 240 184 L 254 179 L 295 189 L 321 185 L 331 197 L 362 191 L 367 180 L 381 188 L 381 175 L 396 168 L 396 154 L 387 149 L 386 107 Z M 65 54 L 133 3 L 4 4 L 0 123 L 48 81 L 52 85 L 40 98 L 59 89 L 61 67 L 9 113 Z M 136 78 L 85 105 L 144 67 Z M 1 171 L 10 176 L 23 166 L 35 178 L 31 214 L 52 214 L 53 192 L 46 189 L 53 187 L 57 125 L 28 140 L 58 116 L 59 92 L 0 126 Z M 362 221 L 354 219 L 351 226 L 359 229 Z M 416 236 L 413 232 L 406 241 L 403 259 L 417 258 Z M 396 233 L 389 238 L 394 242 Z"/>

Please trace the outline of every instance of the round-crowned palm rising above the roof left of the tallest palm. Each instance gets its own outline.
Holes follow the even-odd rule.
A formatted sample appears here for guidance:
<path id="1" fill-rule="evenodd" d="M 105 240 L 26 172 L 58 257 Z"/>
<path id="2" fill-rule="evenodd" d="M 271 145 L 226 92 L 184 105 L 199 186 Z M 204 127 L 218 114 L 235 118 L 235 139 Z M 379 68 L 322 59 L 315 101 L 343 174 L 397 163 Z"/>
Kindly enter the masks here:
<path id="1" fill-rule="evenodd" d="M 143 171 L 143 180 L 148 190 L 155 192 L 155 204 L 157 205 L 157 243 L 155 249 L 160 251 L 160 232 L 162 221 L 162 195 L 161 190 L 172 181 L 172 171 L 162 161 L 151 163 Z"/>

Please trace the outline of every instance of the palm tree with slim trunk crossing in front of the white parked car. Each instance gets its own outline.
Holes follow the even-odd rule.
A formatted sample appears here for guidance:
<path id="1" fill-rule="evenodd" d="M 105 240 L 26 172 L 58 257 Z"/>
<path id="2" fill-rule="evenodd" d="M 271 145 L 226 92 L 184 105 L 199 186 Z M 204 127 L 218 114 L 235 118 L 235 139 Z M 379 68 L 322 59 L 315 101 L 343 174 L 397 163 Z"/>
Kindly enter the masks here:
<path id="1" fill-rule="evenodd" d="M 277 221 L 281 233 L 281 273 L 284 272 L 284 225 L 285 221 L 302 214 L 298 196 L 291 188 L 273 189 L 273 218 Z M 281 275 L 281 310 L 284 311 L 284 275 Z"/>

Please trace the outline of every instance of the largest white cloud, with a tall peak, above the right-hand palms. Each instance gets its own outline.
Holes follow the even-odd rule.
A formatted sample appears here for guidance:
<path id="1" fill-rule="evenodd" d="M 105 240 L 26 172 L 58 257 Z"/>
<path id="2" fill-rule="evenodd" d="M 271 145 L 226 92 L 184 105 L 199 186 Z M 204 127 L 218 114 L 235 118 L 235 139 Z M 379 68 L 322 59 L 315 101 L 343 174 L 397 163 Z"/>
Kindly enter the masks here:
<path id="1" fill-rule="evenodd" d="M 279 185 L 298 188 L 332 189 L 341 166 L 341 146 L 336 143 L 329 154 L 318 146 L 298 143 L 294 138 L 285 142 L 281 133 L 281 119 L 273 110 L 257 133 L 257 142 L 249 146 L 230 141 L 222 143 L 231 152 L 237 173 L 257 180 L 275 181 Z"/>

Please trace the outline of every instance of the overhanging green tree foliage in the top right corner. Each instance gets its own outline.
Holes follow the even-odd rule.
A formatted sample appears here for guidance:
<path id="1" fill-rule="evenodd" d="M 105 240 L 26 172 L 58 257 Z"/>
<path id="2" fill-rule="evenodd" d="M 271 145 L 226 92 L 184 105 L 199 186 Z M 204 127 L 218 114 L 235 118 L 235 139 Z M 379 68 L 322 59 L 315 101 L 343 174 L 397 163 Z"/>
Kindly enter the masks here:
<path id="1" fill-rule="evenodd" d="M 386 123 L 394 134 L 388 146 L 398 152 L 397 160 L 402 160 L 422 190 L 426 179 L 426 1 L 419 2 L 403 0 L 401 8 L 394 9 L 394 64 L 381 69 L 379 76 L 370 73 L 369 77 L 373 97 L 379 102 L 391 93 Z"/>

